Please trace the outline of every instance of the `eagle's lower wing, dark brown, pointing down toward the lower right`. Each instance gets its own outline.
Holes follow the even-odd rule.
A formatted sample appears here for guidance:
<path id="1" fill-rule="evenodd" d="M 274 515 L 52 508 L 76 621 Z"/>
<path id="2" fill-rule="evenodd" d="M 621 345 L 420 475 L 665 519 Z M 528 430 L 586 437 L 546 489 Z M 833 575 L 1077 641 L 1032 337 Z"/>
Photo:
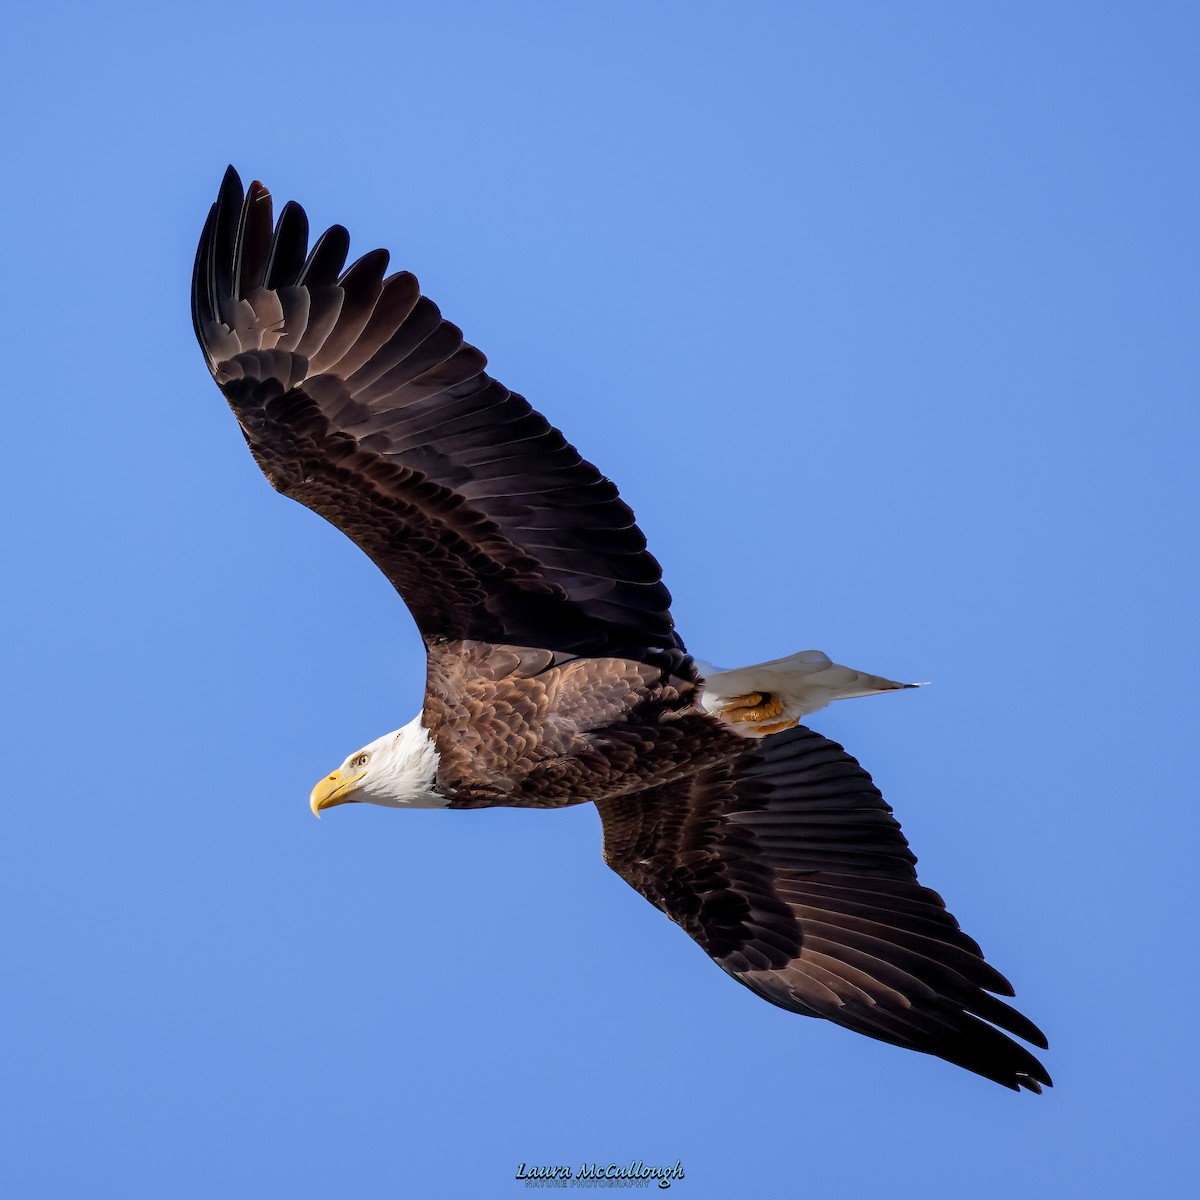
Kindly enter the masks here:
<path id="1" fill-rule="evenodd" d="M 917 882 L 840 745 L 803 726 L 690 780 L 599 803 L 605 860 L 734 979 L 781 1008 L 1039 1092 L 1045 1048 L 1013 989 Z M 998 1028 L 997 1028 L 998 1026 Z"/>

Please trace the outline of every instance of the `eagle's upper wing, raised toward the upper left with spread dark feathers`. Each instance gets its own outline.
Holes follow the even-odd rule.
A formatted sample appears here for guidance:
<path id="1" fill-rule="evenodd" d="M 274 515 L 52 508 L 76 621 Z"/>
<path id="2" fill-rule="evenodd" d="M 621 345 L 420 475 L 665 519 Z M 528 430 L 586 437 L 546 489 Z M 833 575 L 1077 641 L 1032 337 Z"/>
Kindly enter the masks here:
<path id="1" fill-rule="evenodd" d="M 352 538 L 439 637 L 637 653 L 680 646 L 613 484 L 484 372 L 388 253 L 342 270 L 334 226 L 230 167 L 192 277 L 209 370 L 271 484 Z"/>

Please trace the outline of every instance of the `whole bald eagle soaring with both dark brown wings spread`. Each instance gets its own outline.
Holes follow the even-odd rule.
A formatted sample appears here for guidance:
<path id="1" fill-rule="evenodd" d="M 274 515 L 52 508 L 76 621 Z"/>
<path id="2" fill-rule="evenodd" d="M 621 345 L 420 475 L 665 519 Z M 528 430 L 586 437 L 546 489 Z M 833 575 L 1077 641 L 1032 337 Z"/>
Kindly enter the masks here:
<path id="1" fill-rule="evenodd" d="M 427 652 L 425 702 L 317 784 L 320 814 L 593 803 L 605 862 L 726 973 L 781 1008 L 1015 1090 L 1045 1038 L 917 882 L 871 776 L 799 724 L 890 679 L 804 652 L 719 671 L 671 619 L 613 484 L 341 226 L 310 248 L 230 167 L 200 235 L 192 319 L 271 485 L 376 563 Z"/>

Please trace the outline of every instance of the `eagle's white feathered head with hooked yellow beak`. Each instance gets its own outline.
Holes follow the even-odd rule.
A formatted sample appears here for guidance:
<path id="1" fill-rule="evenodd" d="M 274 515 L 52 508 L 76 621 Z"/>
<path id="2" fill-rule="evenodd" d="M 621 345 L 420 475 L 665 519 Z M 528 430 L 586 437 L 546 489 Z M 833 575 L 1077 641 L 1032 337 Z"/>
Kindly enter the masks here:
<path id="1" fill-rule="evenodd" d="M 450 802 L 437 791 L 437 748 L 415 716 L 349 755 L 312 790 L 308 806 L 318 817 L 322 809 L 355 800 L 392 809 L 444 809 Z"/>

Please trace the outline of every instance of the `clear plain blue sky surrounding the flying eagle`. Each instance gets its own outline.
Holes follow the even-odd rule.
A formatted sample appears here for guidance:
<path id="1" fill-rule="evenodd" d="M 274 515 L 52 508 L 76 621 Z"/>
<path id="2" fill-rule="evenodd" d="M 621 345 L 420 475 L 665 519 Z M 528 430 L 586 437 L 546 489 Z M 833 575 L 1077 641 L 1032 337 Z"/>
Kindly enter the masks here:
<path id="1" fill-rule="evenodd" d="M 1194 1183 L 1192 4 L 31 6 L 0 79 L 0 1190 L 1128 1196 Z M 594 810 L 320 823 L 414 626 L 197 349 L 227 163 L 622 486 L 1048 1032 L 1016 1096 L 763 1003 Z"/>

